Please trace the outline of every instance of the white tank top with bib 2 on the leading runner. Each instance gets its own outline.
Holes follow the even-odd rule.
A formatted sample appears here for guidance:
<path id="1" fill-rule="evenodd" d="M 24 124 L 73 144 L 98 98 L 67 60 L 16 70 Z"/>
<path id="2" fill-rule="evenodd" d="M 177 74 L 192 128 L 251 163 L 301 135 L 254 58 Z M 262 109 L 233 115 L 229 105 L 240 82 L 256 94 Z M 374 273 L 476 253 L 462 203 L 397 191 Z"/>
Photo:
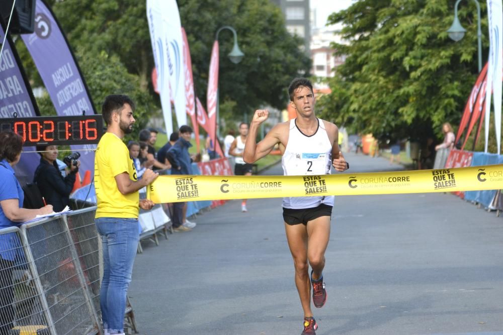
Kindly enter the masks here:
<path id="1" fill-rule="evenodd" d="M 316 120 L 318 129 L 311 136 L 302 134 L 295 124 L 295 119 L 290 120 L 288 143 L 281 158 L 285 176 L 330 174 L 332 144 L 328 139 L 323 121 Z M 333 195 L 285 197 L 283 207 L 313 208 L 322 203 L 333 206 L 333 200 Z"/>

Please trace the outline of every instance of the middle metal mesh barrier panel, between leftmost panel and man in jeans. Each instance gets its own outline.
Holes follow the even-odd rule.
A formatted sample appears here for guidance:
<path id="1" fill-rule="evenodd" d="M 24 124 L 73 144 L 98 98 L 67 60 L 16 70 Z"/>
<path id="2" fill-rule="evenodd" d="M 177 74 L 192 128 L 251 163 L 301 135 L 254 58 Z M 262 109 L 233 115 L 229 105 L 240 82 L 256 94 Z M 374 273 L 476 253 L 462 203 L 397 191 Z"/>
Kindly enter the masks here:
<path id="1" fill-rule="evenodd" d="M 99 321 L 62 215 L 21 227 L 51 334 L 97 333 Z"/>

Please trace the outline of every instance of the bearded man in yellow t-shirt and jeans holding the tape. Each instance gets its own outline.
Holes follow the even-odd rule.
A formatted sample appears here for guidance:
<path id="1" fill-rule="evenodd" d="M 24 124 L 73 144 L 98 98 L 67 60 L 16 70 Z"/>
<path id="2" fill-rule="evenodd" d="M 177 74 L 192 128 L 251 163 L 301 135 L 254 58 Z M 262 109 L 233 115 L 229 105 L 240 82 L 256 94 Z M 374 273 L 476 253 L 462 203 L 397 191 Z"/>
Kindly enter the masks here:
<path id="1" fill-rule="evenodd" d="M 122 142 L 133 130 L 133 110 L 134 103 L 126 95 L 105 98 L 102 115 L 107 132 L 98 143 L 95 157 L 96 228 L 103 243 L 100 305 L 103 328 L 109 334 L 124 334 L 126 294 L 139 240 L 138 206 L 150 209 L 154 205 L 151 200 L 139 200 L 138 190 L 159 175 L 147 169 L 138 180 L 129 150 Z"/>

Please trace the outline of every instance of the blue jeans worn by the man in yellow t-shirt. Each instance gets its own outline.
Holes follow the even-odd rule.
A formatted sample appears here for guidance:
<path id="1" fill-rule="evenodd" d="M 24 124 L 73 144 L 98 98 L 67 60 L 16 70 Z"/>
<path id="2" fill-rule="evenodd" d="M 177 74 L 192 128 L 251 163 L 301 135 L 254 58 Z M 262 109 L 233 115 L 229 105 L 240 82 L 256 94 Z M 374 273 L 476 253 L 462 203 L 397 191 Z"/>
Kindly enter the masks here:
<path id="1" fill-rule="evenodd" d="M 100 306 L 103 327 L 111 334 L 124 332 L 126 296 L 138 247 L 138 219 L 99 217 L 96 228 L 103 244 L 103 280 Z"/>

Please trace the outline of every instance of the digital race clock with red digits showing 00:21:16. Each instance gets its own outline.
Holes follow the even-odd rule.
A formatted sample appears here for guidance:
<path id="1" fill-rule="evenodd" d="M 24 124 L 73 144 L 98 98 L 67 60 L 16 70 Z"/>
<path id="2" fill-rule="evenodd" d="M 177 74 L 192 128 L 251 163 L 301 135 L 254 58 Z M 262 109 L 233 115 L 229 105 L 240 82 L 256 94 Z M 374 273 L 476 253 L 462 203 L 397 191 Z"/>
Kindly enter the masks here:
<path id="1" fill-rule="evenodd" d="M 96 144 L 103 135 L 101 115 L 0 119 L 0 132 L 12 130 L 24 146 Z"/>

